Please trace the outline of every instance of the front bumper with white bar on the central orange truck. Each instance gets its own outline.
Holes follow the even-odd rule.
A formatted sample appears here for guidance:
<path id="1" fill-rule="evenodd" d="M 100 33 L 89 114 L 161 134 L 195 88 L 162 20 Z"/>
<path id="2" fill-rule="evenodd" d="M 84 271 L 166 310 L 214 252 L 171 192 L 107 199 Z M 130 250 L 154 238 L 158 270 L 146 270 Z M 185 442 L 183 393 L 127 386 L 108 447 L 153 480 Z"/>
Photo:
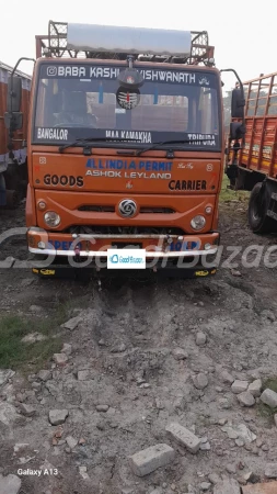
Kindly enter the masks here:
<path id="1" fill-rule="evenodd" d="M 215 274 L 219 233 L 193 235 L 71 235 L 27 232 L 33 272 L 42 277 L 82 278 L 93 273 L 118 276 L 145 274 L 198 278 Z M 109 248 L 146 250 L 146 269 L 107 269 Z M 43 263 L 43 265 L 42 265 Z"/>

